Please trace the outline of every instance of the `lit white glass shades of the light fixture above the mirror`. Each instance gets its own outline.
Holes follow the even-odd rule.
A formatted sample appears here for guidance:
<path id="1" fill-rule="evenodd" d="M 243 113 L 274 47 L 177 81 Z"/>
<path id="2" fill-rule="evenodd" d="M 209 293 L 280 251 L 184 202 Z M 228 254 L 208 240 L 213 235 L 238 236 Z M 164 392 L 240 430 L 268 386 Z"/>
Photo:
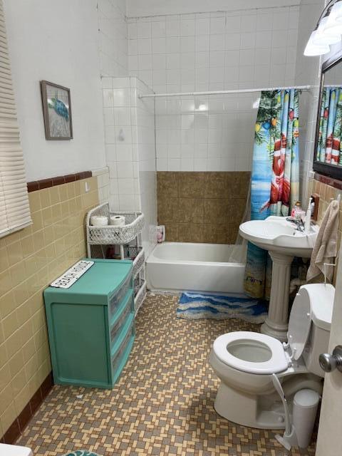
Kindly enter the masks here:
<path id="1" fill-rule="evenodd" d="M 304 56 L 322 56 L 330 45 L 339 43 L 342 35 L 342 0 L 331 0 L 323 9 L 315 30 L 311 33 Z"/>

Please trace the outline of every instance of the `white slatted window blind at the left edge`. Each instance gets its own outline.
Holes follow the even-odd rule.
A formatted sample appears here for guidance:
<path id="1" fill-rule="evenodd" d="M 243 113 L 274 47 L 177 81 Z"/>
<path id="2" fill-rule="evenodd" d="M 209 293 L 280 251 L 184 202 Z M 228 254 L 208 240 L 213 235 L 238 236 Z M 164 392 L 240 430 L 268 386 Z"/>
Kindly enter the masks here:
<path id="1" fill-rule="evenodd" d="M 0 237 L 31 224 L 23 151 L 0 0 Z"/>

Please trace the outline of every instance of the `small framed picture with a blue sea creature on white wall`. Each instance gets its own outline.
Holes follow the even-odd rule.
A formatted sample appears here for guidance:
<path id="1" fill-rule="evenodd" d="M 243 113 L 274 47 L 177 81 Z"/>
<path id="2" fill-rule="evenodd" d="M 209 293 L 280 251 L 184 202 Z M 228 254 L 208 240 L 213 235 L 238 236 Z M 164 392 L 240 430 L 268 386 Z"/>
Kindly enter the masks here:
<path id="1" fill-rule="evenodd" d="M 47 140 L 73 139 L 70 89 L 41 81 L 41 99 L 45 138 Z"/>

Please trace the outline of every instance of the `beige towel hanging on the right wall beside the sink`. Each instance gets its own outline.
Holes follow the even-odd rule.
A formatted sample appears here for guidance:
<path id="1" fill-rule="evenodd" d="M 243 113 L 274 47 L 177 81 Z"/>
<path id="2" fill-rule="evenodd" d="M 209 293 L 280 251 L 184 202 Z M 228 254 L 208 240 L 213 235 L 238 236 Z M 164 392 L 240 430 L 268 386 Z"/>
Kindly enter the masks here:
<path id="1" fill-rule="evenodd" d="M 321 227 L 317 234 L 314 250 L 311 254 L 311 263 L 306 275 L 309 281 L 318 276 L 321 272 L 324 274 L 324 263 L 333 263 L 337 255 L 337 230 L 338 230 L 338 212 L 340 204 L 338 201 L 332 201 L 326 209 Z M 326 266 L 326 278 L 329 281 L 333 279 L 333 266 Z"/>

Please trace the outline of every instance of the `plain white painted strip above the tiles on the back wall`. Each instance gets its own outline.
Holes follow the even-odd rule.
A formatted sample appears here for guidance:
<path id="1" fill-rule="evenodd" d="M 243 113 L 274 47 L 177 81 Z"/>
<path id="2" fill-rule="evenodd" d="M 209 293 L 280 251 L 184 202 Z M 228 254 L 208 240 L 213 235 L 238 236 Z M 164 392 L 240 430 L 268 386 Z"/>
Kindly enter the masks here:
<path id="1" fill-rule="evenodd" d="M 127 0 L 128 16 L 152 16 L 187 14 L 209 11 L 233 11 L 237 9 L 291 6 L 300 0 Z"/>

